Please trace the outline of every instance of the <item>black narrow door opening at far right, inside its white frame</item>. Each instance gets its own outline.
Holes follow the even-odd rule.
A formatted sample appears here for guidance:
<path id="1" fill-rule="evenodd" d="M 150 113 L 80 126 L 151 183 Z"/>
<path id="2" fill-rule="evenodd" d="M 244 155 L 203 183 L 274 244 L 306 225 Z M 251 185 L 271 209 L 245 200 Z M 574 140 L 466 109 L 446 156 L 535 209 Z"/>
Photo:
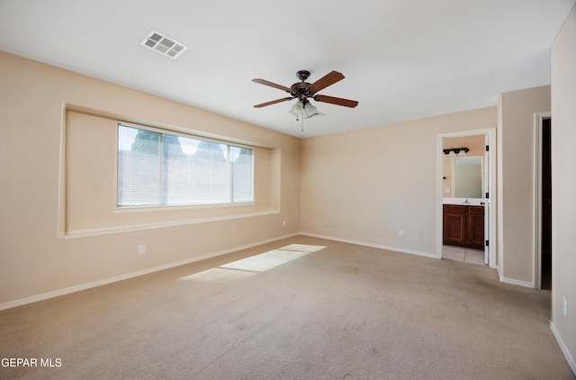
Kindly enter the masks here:
<path id="1" fill-rule="evenodd" d="M 541 289 L 552 290 L 552 119 L 542 121 L 542 231 L 541 231 Z"/>

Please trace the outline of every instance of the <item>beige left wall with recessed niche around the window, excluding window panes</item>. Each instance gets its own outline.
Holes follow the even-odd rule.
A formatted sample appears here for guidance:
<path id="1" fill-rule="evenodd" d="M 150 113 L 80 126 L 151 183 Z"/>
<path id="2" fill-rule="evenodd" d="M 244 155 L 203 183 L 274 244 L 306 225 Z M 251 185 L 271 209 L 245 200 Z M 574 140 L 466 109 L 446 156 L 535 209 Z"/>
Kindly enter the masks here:
<path id="1" fill-rule="evenodd" d="M 297 138 L 3 52 L 0 88 L 0 305 L 300 231 Z M 256 146 L 256 204 L 114 213 L 116 118 Z"/>

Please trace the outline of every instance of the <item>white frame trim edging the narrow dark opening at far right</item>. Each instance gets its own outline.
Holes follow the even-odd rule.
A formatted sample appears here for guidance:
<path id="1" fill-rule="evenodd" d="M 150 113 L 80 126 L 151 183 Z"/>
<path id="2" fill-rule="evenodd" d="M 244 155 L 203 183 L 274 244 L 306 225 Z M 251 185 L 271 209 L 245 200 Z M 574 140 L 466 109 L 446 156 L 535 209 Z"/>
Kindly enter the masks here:
<path id="1" fill-rule="evenodd" d="M 550 119 L 552 113 L 535 113 L 534 122 L 534 286 L 542 287 L 542 124 L 545 119 Z"/>

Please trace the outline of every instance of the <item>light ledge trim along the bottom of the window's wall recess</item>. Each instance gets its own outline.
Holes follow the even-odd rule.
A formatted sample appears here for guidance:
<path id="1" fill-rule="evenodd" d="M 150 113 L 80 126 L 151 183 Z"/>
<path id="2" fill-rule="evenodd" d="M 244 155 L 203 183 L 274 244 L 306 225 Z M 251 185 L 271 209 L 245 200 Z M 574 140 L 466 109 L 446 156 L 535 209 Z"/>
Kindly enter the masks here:
<path id="1" fill-rule="evenodd" d="M 94 230 L 67 231 L 64 234 L 64 239 L 88 238 L 88 237 L 92 237 L 92 236 L 110 235 L 112 233 L 153 230 L 153 229 L 158 229 L 158 228 L 178 227 L 178 226 L 185 226 L 185 225 L 189 225 L 189 224 L 198 224 L 198 223 L 221 222 L 221 221 L 229 221 L 232 219 L 252 218 L 255 216 L 271 215 L 271 214 L 275 214 L 275 213 L 280 213 L 280 212 L 278 212 L 278 211 L 264 211 L 264 212 L 259 212 L 259 213 L 241 213 L 238 215 L 224 215 L 224 216 L 216 216 L 216 217 L 211 217 L 211 218 L 192 219 L 192 220 L 186 220 L 186 221 L 156 222 L 156 223 L 139 224 L 139 225 L 132 225 L 132 226 L 107 227 L 107 228 L 94 229 Z"/>

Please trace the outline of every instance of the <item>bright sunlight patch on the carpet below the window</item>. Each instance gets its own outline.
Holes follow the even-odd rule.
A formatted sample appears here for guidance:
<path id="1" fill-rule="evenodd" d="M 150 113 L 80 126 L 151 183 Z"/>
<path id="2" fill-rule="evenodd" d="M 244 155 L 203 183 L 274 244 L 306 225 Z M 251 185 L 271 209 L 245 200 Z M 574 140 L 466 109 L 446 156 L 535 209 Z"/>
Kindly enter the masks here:
<path id="1" fill-rule="evenodd" d="M 325 248 L 325 246 L 290 244 L 280 249 L 272 249 L 256 256 L 242 258 L 220 267 L 207 269 L 190 276 L 181 277 L 180 279 L 202 282 L 221 282 L 243 279 Z"/>

